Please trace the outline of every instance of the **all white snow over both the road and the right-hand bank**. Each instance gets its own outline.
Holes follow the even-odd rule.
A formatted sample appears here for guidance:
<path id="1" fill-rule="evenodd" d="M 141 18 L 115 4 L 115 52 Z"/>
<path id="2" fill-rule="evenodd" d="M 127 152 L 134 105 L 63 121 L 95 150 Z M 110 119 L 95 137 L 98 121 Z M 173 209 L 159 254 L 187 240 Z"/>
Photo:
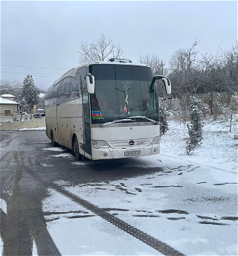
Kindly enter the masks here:
<path id="1" fill-rule="evenodd" d="M 228 122 L 205 121 L 202 144 L 187 156 L 187 128 L 170 121 L 160 155 L 124 161 L 122 168 L 138 168 L 137 177 L 56 183 L 184 255 L 237 255 L 237 124 L 229 132 Z M 51 157 L 71 157 L 62 148 L 44 150 L 54 151 Z M 71 162 L 85 171 L 90 164 Z M 155 171 L 144 175 L 148 168 Z M 57 191 L 48 193 L 45 220 L 62 255 L 161 255 Z"/>

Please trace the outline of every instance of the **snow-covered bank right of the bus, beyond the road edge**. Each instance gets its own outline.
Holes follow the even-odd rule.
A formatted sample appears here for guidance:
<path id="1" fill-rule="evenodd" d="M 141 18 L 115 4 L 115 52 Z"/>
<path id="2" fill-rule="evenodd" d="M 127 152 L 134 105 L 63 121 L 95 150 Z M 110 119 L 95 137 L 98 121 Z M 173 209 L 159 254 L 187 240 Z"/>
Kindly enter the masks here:
<path id="1" fill-rule="evenodd" d="M 231 132 L 228 121 L 205 120 L 202 144 L 191 156 L 184 154 L 189 138 L 186 125 L 170 121 L 170 130 L 161 137 L 161 155 L 237 173 L 238 122 L 233 120 Z"/>

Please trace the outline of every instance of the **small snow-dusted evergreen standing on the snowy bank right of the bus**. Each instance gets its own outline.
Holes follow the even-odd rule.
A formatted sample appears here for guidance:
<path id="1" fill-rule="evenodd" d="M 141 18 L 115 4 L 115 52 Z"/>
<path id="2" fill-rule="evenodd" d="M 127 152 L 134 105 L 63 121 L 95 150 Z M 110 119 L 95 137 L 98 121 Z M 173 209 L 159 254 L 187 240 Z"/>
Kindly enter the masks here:
<path id="1" fill-rule="evenodd" d="M 202 110 L 205 108 L 202 100 L 190 97 L 190 124 L 187 124 L 189 140 L 187 141 L 186 153 L 190 153 L 202 141 Z"/>

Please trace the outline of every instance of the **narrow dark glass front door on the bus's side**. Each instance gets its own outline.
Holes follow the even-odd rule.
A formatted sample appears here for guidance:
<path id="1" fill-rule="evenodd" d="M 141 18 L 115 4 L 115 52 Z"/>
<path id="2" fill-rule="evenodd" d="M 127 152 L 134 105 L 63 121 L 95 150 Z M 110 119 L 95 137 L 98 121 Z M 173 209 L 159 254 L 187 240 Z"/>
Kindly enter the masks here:
<path id="1" fill-rule="evenodd" d="M 89 93 L 83 90 L 83 150 L 91 158 L 91 122 L 89 108 Z M 88 156 L 88 157 L 89 157 Z"/>

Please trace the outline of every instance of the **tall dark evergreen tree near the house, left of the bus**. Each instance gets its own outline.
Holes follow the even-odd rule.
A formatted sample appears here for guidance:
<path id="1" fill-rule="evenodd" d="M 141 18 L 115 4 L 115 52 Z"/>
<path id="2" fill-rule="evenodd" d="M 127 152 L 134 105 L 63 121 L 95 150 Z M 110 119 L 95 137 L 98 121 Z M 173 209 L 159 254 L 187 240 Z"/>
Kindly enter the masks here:
<path id="1" fill-rule="evenodd" d="M 30 74 L 28 74 L 23 81 L 21 98 L 25 100 L 25 103 L 30 109 L 30 113 L 33 106 L 39 103 L 39 89 L 35 86 Z"/>

